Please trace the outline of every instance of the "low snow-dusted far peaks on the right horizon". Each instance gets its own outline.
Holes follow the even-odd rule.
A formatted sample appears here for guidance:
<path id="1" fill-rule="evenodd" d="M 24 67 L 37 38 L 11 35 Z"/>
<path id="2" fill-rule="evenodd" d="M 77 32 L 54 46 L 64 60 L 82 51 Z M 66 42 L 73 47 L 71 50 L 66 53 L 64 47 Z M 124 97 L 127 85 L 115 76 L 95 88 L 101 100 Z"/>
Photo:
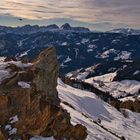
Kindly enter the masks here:
<path id="1" fill-rule="evenodd" d="M 122 33 L 127 35 L 140 35 L 140 29 L 131 29 L 131 28 L 118 28 L 108 31 L 109 33 Z"/>

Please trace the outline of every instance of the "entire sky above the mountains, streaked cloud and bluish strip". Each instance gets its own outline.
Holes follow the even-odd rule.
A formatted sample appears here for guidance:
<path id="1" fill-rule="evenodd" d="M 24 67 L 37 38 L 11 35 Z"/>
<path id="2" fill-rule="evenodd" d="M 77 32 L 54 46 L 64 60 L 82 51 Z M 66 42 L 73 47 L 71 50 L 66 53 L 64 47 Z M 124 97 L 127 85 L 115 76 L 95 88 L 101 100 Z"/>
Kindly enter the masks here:
<path id="1" fill-rule="evenodd" d="M 0 25 L 65 22 L 93 30 L 140 28 L 140 0 L 0 0 Z"/>

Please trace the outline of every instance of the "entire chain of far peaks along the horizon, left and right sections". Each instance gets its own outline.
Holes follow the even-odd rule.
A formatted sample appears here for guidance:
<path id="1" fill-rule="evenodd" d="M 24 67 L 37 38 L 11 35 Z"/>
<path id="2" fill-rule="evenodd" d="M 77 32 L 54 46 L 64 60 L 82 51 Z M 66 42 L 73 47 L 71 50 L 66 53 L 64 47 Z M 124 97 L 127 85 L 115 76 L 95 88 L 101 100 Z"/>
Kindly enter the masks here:
<path id="1" fill-rule="evenodd" d="M 18 26 L 18 27 L 0 26 L 0 34 L 6 34 L 6 33 L 33 34 L 37 32 L 46 32 L 46 31 L 90 32 L 88 28 L 72 27 L 69 23 L 65 23 L 61 27 L 59 27 L 56 24 L 51 24 L 48 26 L 38 26 L 38 25 L 25 25 L 25 26 Z M 93 32 L 98 32 L 98 31 L 93 31 Z M 132 28 L 118 28 L 118 29 L 107 31 L 107 33 L 123 33 L 127 35 L 139 35 L 140 30 L 132 29 Z"/>

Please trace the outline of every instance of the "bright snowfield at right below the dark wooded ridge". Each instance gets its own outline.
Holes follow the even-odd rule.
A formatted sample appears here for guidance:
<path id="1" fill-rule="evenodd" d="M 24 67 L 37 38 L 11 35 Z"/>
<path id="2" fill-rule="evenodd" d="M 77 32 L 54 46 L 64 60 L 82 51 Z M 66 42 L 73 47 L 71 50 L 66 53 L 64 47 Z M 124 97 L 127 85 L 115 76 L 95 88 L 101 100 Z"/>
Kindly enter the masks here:
<path id="1" fill-rule="evenodd" d="M 139 81 L 135 80 L 113 81 L 115 76 L 116 72 L 108 73 L 102 76 L 92 77 L 84 81 L 104 92 L 109 92 L 115 98 L 126 97 L 128 95 L 135 95 L 139 92 L 140 90 Z M 126 99 L 130 98 L 125 98 L 122 101 L 126 101 Z M 133 100 L 133 98 L 131 97 L 130 100 Z"/>

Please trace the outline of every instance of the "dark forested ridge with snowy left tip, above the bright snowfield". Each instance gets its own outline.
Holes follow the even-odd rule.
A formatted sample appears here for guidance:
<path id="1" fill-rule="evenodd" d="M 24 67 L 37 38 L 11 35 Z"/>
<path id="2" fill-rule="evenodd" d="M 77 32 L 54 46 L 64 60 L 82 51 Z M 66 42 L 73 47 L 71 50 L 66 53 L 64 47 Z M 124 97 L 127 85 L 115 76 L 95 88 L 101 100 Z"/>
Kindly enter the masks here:
<path id="1" fill-rule="evenodd" d="M 65 74 L 69 79 L 81 81 L 89 78 L 103 77 L 116 72 L 113 81 L 123 81 L 126 79 L 140 81 L 140 60 L 136 61 L 111 61 L 92 65 L 88 68 L 80 68 Z"/>

